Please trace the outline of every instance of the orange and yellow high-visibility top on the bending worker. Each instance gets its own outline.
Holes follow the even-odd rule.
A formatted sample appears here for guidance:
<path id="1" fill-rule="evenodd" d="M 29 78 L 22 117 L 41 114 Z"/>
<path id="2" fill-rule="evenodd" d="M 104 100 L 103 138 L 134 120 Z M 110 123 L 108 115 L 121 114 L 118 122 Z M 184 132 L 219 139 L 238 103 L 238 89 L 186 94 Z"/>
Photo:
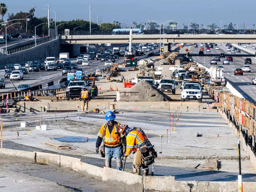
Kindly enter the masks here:
<path id="1" fill-rule="evenodd" d="M 146 135 L 143 135 L 140 131 L 136 129 L 130 131 L 126 136 L 126 153 L 137 151 L 137 145 L 142 144 L 146 139 Z"/>

